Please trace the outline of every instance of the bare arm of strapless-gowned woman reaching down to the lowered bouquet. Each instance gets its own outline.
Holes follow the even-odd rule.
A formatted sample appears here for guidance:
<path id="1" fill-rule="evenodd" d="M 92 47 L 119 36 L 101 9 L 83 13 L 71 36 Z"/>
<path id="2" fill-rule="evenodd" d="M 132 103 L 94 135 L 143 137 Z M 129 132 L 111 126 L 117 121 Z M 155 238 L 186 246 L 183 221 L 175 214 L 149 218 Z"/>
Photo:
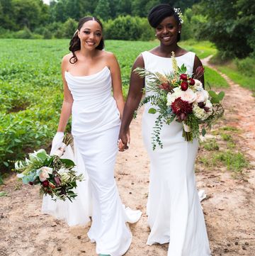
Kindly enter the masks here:
<path id="1" fill-rule="evenodd" d="M 64 72 L 67 71 L 67 63 L 69 61 L 69 57 L 66 55 L 64 56 L 62 60 L 62 80 L 63 80 L 63 85 L 64 85 L 64 101 L 62 104 L 62 109 L 61 109 L 61 114 L 60 114 L 60 122 L 59 126 L 57 128 L 58 132 L 64 132 L 67 122 L 69 120 L 69 117 L 71 116 L 72 113 L 72 104 L 73 104 L 73 97 L 71 94 L 71 91 L 69 91 L 69 88 L 67 86 L 67 81 L 64 78 Z"/>

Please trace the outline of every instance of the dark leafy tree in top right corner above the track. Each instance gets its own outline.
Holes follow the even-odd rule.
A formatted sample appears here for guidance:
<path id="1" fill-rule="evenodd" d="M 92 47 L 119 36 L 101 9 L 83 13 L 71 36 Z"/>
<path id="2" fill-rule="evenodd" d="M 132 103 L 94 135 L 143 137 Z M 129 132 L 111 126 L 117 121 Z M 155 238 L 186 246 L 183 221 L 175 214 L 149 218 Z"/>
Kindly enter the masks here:
<path id="1" fill-rule="evenodd" d="M 203 0 L 208 16 L 204 33 L 222 57 L 246 57 L 254 52 L 255 5 L 246 0 Z"/>

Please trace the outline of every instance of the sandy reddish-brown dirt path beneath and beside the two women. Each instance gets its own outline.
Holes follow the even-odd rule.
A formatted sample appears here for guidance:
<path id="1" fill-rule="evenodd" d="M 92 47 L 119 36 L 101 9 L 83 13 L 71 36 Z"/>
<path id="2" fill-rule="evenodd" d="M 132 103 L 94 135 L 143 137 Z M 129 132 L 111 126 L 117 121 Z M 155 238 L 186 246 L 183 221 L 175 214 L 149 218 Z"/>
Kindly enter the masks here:
<path id="1" fill-rule="evenodd" d="M 254 161 L 255 103 L 251 93 L 232 83 L 226 89 L 225 119 L 218 125 L 234 126 L 242 132 L 234 142 Z M 140 221 L 131 227 L 133 240 L 127 256 L 166 256 L 168 245 L 146 245 L 146 202 L 149 185 L 149 160 L 142 145 L 141 114 L 132 122 L 130 150 L 119 153 L 115 168 L 123 204 L 142 211 Z M 225 167 L 207 169 L 199 161 L 205 150 L 198 152 L 196 164 L 199 189 L 205 189 L 205 221 L 213 256 L 255 255 L 255 171 L 249 178 L 234 179 Z M 21 186 L 12 176 L 0 188 L 8 196 L 0 198 L 0 256 L 64 255 L 94 256 L 95 245 L 89 242 L 89 226 L 69 228 L 62 221 L 40 213 L 38 188 Z M 203 255 L 201 255 L 203 256 Z"/>

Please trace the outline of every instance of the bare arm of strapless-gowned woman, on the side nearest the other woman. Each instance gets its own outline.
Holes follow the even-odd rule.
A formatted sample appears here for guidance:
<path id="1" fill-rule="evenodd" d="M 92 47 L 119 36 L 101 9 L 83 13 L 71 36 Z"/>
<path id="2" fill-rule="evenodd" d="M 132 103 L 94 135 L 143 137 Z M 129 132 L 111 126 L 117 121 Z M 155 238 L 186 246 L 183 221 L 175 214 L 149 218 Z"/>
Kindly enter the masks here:
<path id="1" fill-rule="evenodd" d="M 121 75 L 120 75 L 120 66 L 118 65 L 118 61 L 112 53 L 109 54 L 108 65 L 111 70 L 111 78 L 113 83 L 113 98 L 116 101 L 118 111 L 120 111 L 120 119 L 123 116 L 124 109 L 124 99 L 123 99 L 123 91 L 122 91 L 122 83 L 121 83 Z"/>

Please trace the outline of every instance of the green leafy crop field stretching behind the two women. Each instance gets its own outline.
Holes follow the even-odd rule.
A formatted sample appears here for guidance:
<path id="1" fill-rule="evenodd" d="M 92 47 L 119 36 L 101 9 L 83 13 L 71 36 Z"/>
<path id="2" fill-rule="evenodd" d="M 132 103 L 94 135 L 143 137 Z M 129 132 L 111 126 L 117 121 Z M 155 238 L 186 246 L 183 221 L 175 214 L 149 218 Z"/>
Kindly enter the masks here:
<path id="1" fill-rule="evenodd" d="M 125 95 L 135 58 L 157 45 L 156 41 L 106 41 L 106 50 L 114 52 L 120 63 Z M 60 63 L 68 46 L 69 40 L 0 40 L 1 170 L 11 169 L 10 160 L 26 152 L 47 148 L 55 134 L 62 104 Z M 209 43 L 184 42 L 182 47 L 200 57 L 215 53 Z M 219 86 L 217 73 L 208 72 L 206 79 L 212 87 Z"/>

